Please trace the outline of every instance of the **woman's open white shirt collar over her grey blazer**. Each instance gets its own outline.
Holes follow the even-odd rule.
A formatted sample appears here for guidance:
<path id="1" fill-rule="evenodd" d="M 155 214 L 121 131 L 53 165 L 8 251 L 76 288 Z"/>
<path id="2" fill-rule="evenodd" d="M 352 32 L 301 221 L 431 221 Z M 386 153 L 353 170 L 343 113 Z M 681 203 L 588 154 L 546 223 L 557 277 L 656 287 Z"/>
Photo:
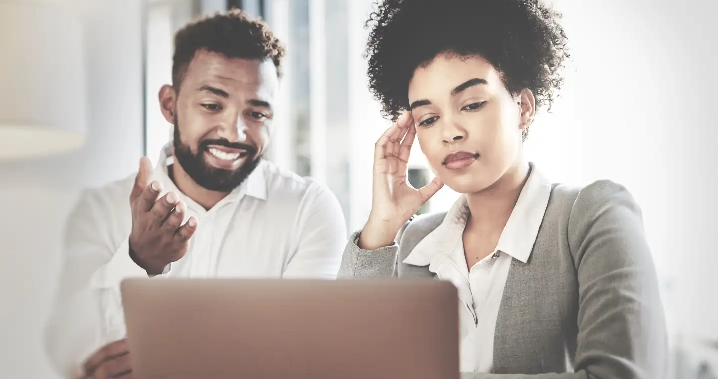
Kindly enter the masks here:
<path id="1" fill-rule="evenodd" d="M 549 205 L 552 185 L 538 172 L 533 163 L 529 163 L 531 172 L 523 185 L 518 201 L 511 211 L 496 250 L 506 253 L 518 261 L 526 263 L 531 256 L 533 243 L 538 229 L 544 221 L 546 207 Z M 447 261 L 457 243 L 462 243 L 466 227 L 465 195 L 454 202 L 444 221 L 421 240 L 404 263 L 413 266 L 429 266 L 429 271 L 437 272 L 438 267 Z"/>

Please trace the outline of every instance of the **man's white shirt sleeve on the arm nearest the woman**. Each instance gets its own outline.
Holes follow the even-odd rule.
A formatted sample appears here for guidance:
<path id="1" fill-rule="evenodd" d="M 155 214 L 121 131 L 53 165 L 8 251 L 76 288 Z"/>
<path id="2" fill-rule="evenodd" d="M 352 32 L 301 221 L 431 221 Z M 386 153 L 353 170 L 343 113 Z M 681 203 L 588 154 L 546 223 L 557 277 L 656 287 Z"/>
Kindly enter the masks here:
<path id="1" fill-rule="evenodd" d="M 297 248 L 282 277 L 336 279 L 346 235 L 337 198 L 327 187 L 312 182 L 297 216 Z"/>

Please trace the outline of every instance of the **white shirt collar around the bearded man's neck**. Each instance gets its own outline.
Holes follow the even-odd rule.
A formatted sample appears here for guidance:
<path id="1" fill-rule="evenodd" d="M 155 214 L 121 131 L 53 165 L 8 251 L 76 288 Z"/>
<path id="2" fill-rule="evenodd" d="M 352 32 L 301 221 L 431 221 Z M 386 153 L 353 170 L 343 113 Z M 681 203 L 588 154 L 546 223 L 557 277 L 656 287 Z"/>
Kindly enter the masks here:
<path id="1" fill-rule="evenodd" d="M 159 159 L 157 159 L 157 166 L 154 167 L 154 171 L 152 172 L 152 179 L 162 183 L 162 186 L 164 187 L 165 191 L 174 191 L 180 193 L 181 195 L 184 195 L 180 192 L 180 190 L 177 189 L 177 186 L 174 185 L 172 179 L 169 178 L 167 167 L 169 167 L 169 165 L 173 163 L 174 147 L 172 145 L 172 141 L 170 141 L 164 146 L 162 146 L 162 149 L 159 153 Z M 257 200 L 266 201 L 266 169 L 268 169 L 268 164 L 268 162 L 262 159 L 261 162 L 259 162 L 259 164 L 257 165 L 257 167 L 255 167 L 255 169 L 251 172 L 251 174 L 249 174 L 247 179 L 245 179 L 239 187 L 232 190 L 232 192 L 230 192 L 230 194 L 225 197 L 225 200 L 223 201 L 238 201 L 241 200 L 241 198 L 245 195 L 249 197 L 254 197 Z"/>

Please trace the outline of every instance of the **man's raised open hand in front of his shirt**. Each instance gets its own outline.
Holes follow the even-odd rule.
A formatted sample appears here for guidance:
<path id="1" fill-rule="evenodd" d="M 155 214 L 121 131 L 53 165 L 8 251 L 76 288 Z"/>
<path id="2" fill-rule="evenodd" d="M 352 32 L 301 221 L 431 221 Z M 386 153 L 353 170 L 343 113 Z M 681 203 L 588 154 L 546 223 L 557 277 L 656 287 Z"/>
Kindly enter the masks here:
<path id="1" fill-rule="evenodd" d="M 130 256 L 150 275 L 159 275 L 169 263 L 185 256 L 190 238 L 197 230 L 197 219 L 185 220 L 187 206 L 172 192 L 157 199 L 162 187 L 149 182 L 149 160 L 142 157 L 130 195 L 132 231 Z"/>

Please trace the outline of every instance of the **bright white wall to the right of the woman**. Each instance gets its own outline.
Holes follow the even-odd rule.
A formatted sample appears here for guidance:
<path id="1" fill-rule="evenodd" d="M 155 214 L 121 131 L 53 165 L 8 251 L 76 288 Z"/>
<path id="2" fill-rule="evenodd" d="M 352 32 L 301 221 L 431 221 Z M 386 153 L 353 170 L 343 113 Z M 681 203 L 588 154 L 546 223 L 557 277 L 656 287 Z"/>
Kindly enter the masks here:
<path id="1" fill-rule="evenodd" d="M 718 38 L 710 27 L 718 3 L 554 3 L 574 64 L 564 98 L 540 116 L 528 150 L 560 180 L 625 184 L 643 207 L 673 337 L 718 340 Z"/>

